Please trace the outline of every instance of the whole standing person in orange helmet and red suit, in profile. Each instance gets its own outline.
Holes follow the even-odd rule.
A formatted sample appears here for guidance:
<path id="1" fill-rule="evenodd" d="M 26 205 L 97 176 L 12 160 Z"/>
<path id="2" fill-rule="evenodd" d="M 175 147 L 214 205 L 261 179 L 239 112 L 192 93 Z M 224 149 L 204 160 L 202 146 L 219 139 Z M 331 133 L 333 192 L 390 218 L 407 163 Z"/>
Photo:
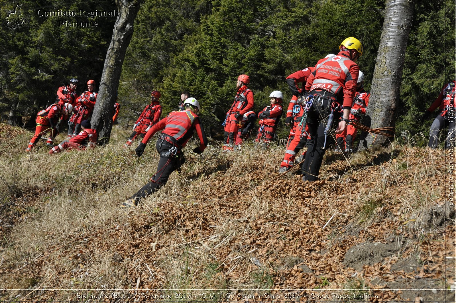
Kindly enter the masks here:
<path id="1" fill-rule="evenodd" d="M 225 126 L 223 150 L 233 151 L 234 137 L 238 133 L 239 121 L 242 120 L 245 113 L 254 108 L 254 92 L 247 87 L 250 83 L 248 75 L 239 75 L 236 89 L 238 93 L 234 97 L 233 105 L 228 110 L 226 119 L 223 122 Z"/>

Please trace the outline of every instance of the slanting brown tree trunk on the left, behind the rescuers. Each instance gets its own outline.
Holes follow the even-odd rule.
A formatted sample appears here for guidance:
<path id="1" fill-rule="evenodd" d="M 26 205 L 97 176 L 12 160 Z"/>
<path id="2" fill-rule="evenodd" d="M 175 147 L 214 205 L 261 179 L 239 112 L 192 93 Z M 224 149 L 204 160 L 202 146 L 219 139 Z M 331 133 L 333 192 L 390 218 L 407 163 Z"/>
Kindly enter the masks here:
<path id="1" fill-rule="evenodd" d="M 92 128 L 98 132 L 101 145 L 109 142 L 112 129 L 114 100 L 119 88 L 120 72 L 125 52 L 133 36 L 133 24 L 144 0 L 117 0 L 119 16 L 114 25 L 113 37 L 104 61 L 103 74 L 93 109 Z"/>

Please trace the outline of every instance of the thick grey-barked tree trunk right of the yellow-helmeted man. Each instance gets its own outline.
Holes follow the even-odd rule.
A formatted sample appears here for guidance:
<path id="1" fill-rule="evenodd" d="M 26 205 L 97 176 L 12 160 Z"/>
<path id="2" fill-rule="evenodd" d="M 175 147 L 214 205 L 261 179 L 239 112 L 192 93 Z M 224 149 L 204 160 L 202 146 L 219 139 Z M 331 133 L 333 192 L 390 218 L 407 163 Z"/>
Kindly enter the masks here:
<path id="1" fill-rule="evenodd" d="M 409 0 L 387 0 L 367 110 L 371 120 L 371 125 L 367 126 L 371 128 L 394 127 L 396 123 L 402 68 L 413 10 L 413 4 Z M 388 145 L 389 139 L 390 137 L 382 135 L 376 139 L 367 136 L 367 142 L 361 141 L 359 149 Z"/>

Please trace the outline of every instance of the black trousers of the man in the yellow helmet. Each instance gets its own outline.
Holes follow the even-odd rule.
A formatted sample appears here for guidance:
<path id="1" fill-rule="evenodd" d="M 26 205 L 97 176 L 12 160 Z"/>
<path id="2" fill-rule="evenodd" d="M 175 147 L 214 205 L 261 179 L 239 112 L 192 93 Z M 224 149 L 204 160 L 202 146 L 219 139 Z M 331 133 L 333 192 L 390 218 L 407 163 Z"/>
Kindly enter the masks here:
<path id="1" fill-rule="evenodd" d="M 304 181 L 316 181 L 320 172 L 321 162 L 325 155 L 326 149 L 334 143 L 332 131 L 329 131 L 326 136 L 325 146 L 325 128 L 331 114 L 331 99 L 324 99 L 323 104 L 314 101 L 312 107 L 307 112 L 307 125 L 309 126 L 309 134 L 312 140 L 307 147 L 306 159 L 302 165 L 302 179 Z M 334 112 L 334 120 L 331 129 L 334 129 L 339 124 L 341 117 L 340 109 Z M 325 146 L 325 149 L 323 149 Z"/>

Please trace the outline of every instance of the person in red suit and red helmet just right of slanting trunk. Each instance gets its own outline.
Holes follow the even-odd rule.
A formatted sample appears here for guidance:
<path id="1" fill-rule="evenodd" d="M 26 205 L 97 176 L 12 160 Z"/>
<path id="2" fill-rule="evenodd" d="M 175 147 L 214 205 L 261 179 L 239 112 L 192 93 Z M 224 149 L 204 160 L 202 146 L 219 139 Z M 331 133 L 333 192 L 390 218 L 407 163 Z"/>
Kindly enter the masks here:
<path id="1" fill-rule="evenodd" d="M 159 91 L 154 90 L 150 95 L 150 104 L 147 105 L 143 112 L 141 113 L 138 120 L 136 120 L 135 125 L 133 126 L 133 132 L 131 133 L 130 138 L 128 138 L 125 146 L 130 146 L 133 141 L 135 141 L 136 136 L 144 137 L 145 133 L 149 131 L 150 127 L 160 120 L 161 115 L 161 105 L 158 99 L 160 99 L 161 94 Z"/>

